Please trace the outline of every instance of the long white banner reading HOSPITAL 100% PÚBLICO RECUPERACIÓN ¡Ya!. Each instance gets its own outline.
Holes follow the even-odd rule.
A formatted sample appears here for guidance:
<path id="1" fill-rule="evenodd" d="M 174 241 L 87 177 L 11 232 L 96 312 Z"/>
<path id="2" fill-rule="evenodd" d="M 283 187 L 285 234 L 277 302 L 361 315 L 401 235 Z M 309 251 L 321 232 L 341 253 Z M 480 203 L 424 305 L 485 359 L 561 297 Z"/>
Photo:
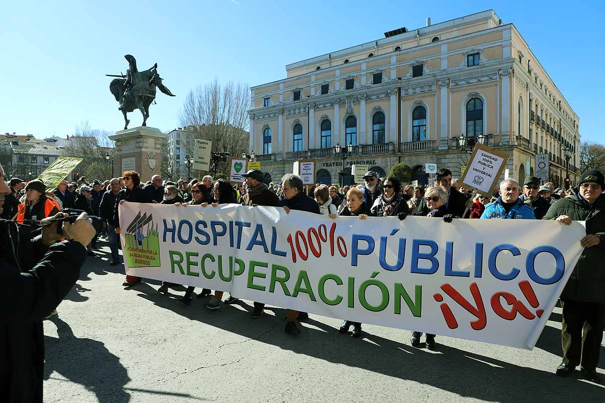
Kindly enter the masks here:
<path id="1" fill-rule="evenodd" d="M 120 205 L 126 273 L 362 323 L 532 349 L 583 225 Z M 521 235 L 520 235 L 521 234 Z"/>

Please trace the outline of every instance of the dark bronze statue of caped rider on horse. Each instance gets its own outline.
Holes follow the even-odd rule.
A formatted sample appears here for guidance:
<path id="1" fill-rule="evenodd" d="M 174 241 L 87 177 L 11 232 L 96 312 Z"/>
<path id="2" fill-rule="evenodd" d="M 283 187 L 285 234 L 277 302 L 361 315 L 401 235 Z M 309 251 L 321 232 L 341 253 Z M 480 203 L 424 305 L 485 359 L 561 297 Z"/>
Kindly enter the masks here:
<path id="1" fill-rule="evenodd" d="M 137 69 L 137 61 L 129 54 L 124 56 L 128 60 L 128 70 L 126 75 L 106 74 L 109 77 L 121 77 L 111 80 L 110 91 L 114 95 L 116 101 L 120 103 L 118 108 L 124 115 L 124 129 L 128 129 L 130 120 L 126 117 L 126 113 L 139 109 L 143 115 L 143 124 L 147 126 L 147 118 L 149 117 L 149 105 L 155 99 L 155 87 L 159 88 L 164 94 L 174 97 L 162 83 L 162 77 L 157 73 L 157 63 L 145 71 Z"/>

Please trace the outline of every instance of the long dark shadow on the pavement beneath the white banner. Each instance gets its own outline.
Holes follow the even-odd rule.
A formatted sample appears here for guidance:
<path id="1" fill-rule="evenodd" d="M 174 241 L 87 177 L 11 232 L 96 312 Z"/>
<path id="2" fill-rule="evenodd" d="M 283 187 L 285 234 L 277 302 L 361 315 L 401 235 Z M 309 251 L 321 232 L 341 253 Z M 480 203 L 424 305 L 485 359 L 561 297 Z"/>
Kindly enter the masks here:
<path id="1" fill-rule="evenodd" d="M 208 301 L 206 298 L 194 298 L 192 305 L 183 306 L 175 298 L 180 298 L 181 295 L 159 294 L 155 288 L 146 283 L 139 283 L 129 291 L 139 292 L 139 295 L 146 300 L 189 320 L 197 320 L 295 353 L 400 379 L 409 379 L 460 396 L 502 403 L 594 402 L 605 399 L 605 388 L 578 380 L 579 371 L 570 378 L 561 379 L 554 374 L 555 368 L 552 368 L 552 372 L 545 372 L 517 366 L 439 344 L 439 337 L 437 337 L 437 353 L 433 353 L 404 344 L 408 342 L 408 332 L 406 332 L 406 340 L 401 342 L 365 332 L 362 334 L 365 340 L 355 339 L 339 334 L 338 329 L 334 327 L 313 320 L 315 315 L 302 324 L 302 332 L 298 337 L 292 337 L 287 335 L 281 326 L 281 323 L 285 324 L 285 309 L 269 308 L 269 311 L 275 312 L 276 317 L 266 314 L 253 320 L 249 318 L 247 312 L 242 312 L 234 306 L 222 305 L 218 311 L 209 311 L 204 307 Z M 240 305 L 245 306 L 247 311 L 251 309 L 243 301 L 240 301 Z M 275 329 L 271 331 L 272 328 Z M 550 347 L 555 343 L 558 343 L 556 351 L 554 347 L 546 350 L 552 350 L 554 354 L 560 356 L 560 330 L 546 326 L 539 347 Z M 485 344 L 485 349 L 489 349 L 489 344 Z M 515 353 L 519 351 L 516 350 Z"/>

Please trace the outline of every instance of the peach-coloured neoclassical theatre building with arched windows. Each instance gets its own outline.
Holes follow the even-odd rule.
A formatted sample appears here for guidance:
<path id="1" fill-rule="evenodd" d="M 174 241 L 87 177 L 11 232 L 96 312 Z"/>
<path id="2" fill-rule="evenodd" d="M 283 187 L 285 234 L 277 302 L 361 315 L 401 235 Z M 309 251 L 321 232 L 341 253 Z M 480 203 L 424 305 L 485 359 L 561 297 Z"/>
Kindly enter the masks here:
<path id="1" fill-rule="evenodd" d="M 319 182 L 351 182 L 350 166 L 381 175 L 406 163 L 425 182 L 425 163 L 460 176 L 459 137 L 511 155 L 509 175 L 534 175 L 548 153 L 550 179 L 580 172 L 580 120 L 513 24 L 493 10 L 407 30 L 286 66 L 286 79 L 253 86 L 250 147 L 266 179 L 315 158 Z M 335 146 L 351 144 L 343 169 Z M 348 175 L 339 174 L 347 172 Z"/>

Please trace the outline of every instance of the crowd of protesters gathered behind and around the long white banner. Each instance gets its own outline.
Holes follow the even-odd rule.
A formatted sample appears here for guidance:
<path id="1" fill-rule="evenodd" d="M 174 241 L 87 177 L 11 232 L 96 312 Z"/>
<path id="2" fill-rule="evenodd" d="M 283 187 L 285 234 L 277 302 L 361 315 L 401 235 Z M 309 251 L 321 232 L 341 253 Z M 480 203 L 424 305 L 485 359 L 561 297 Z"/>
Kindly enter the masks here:
<path id="1" fill-rule="evenodd" d="M 599 259 L 605 257 L 605 187 L 603 174 L 596 170 L 585 172 L 573 189 L 555 189 L 551 182 L 541 185 L 535 177 L 526 178 L 523 184 L 507 178 L 499 184 L 492 195 L 483 195 L 461 187 L 452 178 L 448 169 L 440 169 L 434 184 L 404 185 L 393 177 L 380 178 L 378 173 L 365 173 L 363 184 L 339 186 L 338 184 L 315 184 L 307 187 L 294 174 L 286 174 L 279 184 L 265 184 L 260 170 L 244 173 L 241 185 L 232 185 L 225 179 L 215 180 L 212 176 L 180 178 L 164 181 L 160 175 L 152 176 L 143 183 L 139 173 L 126 171 L 122 178 L 106 181 L 86 178 L 80 183 L 61 181 L 56 189 L 46 189 L 39 179 L 24 183 L 11 178 L 7 183 L 9 192 L 0 198 L 1 217 L 16 222 L 39 221 L 53 217 L 66 209 L 81 210 L 88 216 L 98 217 L 102 225 L 85 247 L 94 256 L 98 248 L 97 238 L 106 239 L 110 246 L 110 265 L 122 264 L 120 257 L 119 205 L 123 202 L 142 202 L 174 205 L 175 208 L 208 208 L 220 204 L 237 203 L 248 206 L 272 206 L 291 210 L 322 214 L 327 219 L 338 216 L 357 216 L 361 220 L 370 217 L 396 216 L 400 220 L 408 216 L 442 218 L 445 222 L 454 219 L 551 219 L 562 225 L 571 221 L 586 221 L 586 237 L 581 240 L 583 254 L 574 268 L 571 279 L 561 294 L 563 308 L 563 361 L 556 373 L 567 376 L 575 367 L 581 366 L 584 376 L 598 381 L 596 372 L 603 328 L 605 326 L 605 272 L 598 267 Z M 3 204 L 3 205 L 2 205 Z M 367 221 L 371 225 L 371 220 Z M 124 285 L 133 286 L 142 279 L 126 276 Z M 175 284 L 164 282 L 159 291 L 166 293 Z M 230 295 L 223 301 L 223 291 L 203 288 L 197 298 L 208 297 L 206 308 L 216 310 L 221 304 L 238 300 Z M 194 287 L 188 287 L 180 299 L 192 303 Z M 287 307 L 285 307 L 287 308 Z M 56 311 L 55 311 L 56 312 Z M 252 318 L 264 313 L 264 304 L 253 303 Z M 288 334 L 298 334 L 298 321 L 309 315 L 293 309 L 286 311 Z M 353 337 L 362 334 L 362 324 L 344 318 L 339 332 Z M 585 328 L 585 329 L 584 329 Z M 583 329 L 585 336 L 583 340 Z M 422 329 L 419 329 L 422 330 Z M 420 346 L 422 332 L 414 331 L 410 343 Z M 425 335 L 425 346 L 434 349 L 436 335 Z"/>

